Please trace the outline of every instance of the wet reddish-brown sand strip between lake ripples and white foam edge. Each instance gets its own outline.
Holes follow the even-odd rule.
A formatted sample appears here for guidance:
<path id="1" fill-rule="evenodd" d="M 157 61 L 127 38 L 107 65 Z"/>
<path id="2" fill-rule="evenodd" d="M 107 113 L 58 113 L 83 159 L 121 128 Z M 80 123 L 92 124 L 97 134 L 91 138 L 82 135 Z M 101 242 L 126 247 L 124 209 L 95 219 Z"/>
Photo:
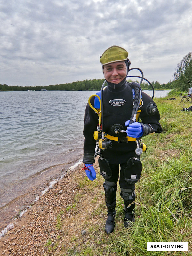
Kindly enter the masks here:
<path id="1" fill-rule="evenodd" d="M 1 207 L 0 238 L 7 225 L 11 224 L 15 218 L 21 217 L 23 212 L 29 209 L 30 206 L 38 200 L 39 196 L 44 194 L 46 190 L 51 188 L 54 183 L 58 182 L 58 180 L 62 179 L 69 170 L 73 169 L 74 164 L 81 164 L 81 160 L 78 162 L 52 166 L 46 168 L 43 175 L 34 175 L 34 177 L 32 177 L 32 182 L 26 183 L 18 196 Z M 14 191 L 12 191 L 12 193 L 14 195 Z M 4 196 L 6 196 L 6 194 Z"/>

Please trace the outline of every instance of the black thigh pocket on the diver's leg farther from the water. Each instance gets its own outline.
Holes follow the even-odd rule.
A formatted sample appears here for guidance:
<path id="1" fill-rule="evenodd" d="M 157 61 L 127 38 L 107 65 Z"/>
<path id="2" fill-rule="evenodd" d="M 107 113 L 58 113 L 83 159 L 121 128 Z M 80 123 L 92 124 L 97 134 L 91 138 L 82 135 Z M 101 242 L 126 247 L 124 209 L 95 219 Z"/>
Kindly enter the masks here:
<path id="1" fill-rule="evenodd" d="M 127 167 L 124 169 L 124 180 L 128 184 L 136 183 L 141 176 L 142 163 L 140 159 L 133 157 L 127 161 Z"/>

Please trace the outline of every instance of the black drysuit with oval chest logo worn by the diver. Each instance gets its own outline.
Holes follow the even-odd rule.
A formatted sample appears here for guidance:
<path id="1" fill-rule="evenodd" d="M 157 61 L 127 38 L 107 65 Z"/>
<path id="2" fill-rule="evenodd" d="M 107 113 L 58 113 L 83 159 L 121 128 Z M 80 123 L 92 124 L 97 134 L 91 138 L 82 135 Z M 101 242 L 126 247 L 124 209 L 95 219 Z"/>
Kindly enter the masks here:
<path id="1" fill-rule="evenodd" d="M 111 130 L 112 125 L 120 124 L 123 126 L 123 130 L 126 130 L 125 122 L 130 120 L 133 108 L 133 92 L 131 84 L 133 83 L 124 83 L 120 88 L 113 89 L 110 86 L 107 86 L 103 90 L 103 124 L 104 124 L 104 132 L 114 136 L 114 137 L 125 137 L 126 133 L 119 132 L 116 134 Z M 112 101 L 111 101 L 112 100 Z M 121 101 L 121 104 L 114 104 L 114 100 Z M 159 124 L 160 114 L 157 110 L 154 115 L 149 115 L 146 112 L 146 108 L 150 102 L 154 103 L 154 101 L 147 94 L 142 92 L 142 100 L 143 106 L 142 111 L 140 113 L 141 125 L 144 129 L 143 135 L 148 135 L 153 132 L 162 132 L 161 125 Z M 111 102 L 111 103 L 110 103 Z M 91 104 L 94 106 L 94 97 L 91 99 Z M 85 110 L 85 119 L 84 119 L 84 157 L 83 163 L 94 163 L 94 150 L 96 145 L 96 140 L 93 138 L 93 132 L 97 130 L 98 125 L 98 115 L 94 112 L 92 108 L 87 104 Z M 130 185 L 124 180 L 124 169 L 126 167 L 127 160 L 132 157 L 140 156 L 135 154 L 135 149 L 137 148 L 135 141 L 130 142 L 116 142 L 112 141 L 112 148 L 106 148 L 104 150 L 101 149 L 101 153 L 104 158 L 108 159 L 110 163 L 110 168 L 112 170 L 112 177 L 107 179 L 108 184 L 112 184 L 114 190 L 116 190 L 116 184 L 118 181 L 119 175 L 119 164 L 121 165 L 120 171 L 120 187 L 121 187 L 121 197 L 125 199 L 134 199 L 134 184 Z M 102 173 L 101 173 L 102 174 Z M 105 179 L 106 181 L 106 179 Z M 104 183 L 105 185 L 105 183 Z M 105 188 L 105 187 L 104 187 Z M 130 191 L 130 193 L 124 192 Z M 106 191 L 106 189 L 105 189 Z M 131 195 L 131 198 L 130 198 Z M 111 199 L 110 199 L 111 198 Z M 109 196 L 106 199 L 107 208 L 109 205 L 112 205 L 114 199 Z M 131 200 L 131 201 L 132 201 Z M 130 200 L 128 200 L 130 202 Z M 110 208 L 110 207 L 109 207 Z M 108 208 L 108 210 L 110 210 Z M 113 208 L 113 207 L 112 207 Z M 111 208 L 111 209 L 112 209 Z"/>

